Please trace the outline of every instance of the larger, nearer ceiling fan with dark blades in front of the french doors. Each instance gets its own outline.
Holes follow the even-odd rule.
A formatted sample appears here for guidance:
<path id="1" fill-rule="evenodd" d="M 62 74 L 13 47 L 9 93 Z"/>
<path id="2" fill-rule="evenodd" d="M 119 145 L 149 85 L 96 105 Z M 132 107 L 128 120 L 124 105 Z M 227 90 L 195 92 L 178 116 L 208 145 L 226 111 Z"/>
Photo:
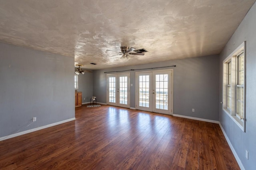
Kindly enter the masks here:
<path id="1" fill-rule="evenodd" d="M 106 51 L 115 51 L 118 52 L 119 54 L 116 55 L 122 55 L 122 57 L 120 59 L 130 59 L 130 55 L 144 55 L 144 53 L 148 52 L 145 49 L 138 49 L 135 50 L 135 48 L 133 47 L 127 47 L 127 46 L 122 46 L 120 47 L 121 51 L 115 51 L 115 50 L 106 50 Z M 116 55 L 111 55 L 109 57 L 112 56 L 116 56 Z"/>

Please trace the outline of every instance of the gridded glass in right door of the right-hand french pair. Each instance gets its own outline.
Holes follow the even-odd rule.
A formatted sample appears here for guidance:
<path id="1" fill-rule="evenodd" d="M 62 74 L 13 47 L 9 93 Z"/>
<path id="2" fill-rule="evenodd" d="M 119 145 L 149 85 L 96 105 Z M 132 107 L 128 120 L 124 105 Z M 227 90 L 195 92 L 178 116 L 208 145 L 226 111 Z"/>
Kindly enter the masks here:
<path id="1" fill-rule="evenodd" d="M 168 74 L 156 74 L 156 109 L 168 110 Z"/>

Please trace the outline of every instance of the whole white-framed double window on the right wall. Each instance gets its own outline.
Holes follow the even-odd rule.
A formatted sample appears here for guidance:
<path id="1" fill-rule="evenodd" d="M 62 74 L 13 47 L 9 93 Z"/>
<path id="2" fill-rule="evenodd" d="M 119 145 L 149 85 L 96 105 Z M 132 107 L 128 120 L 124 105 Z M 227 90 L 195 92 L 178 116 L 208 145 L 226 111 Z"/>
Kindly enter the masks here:
<path id="1" fill-rule="evenodd" d="M 245 42 L 223 61 L 223 110 L 245 131 Z"/>

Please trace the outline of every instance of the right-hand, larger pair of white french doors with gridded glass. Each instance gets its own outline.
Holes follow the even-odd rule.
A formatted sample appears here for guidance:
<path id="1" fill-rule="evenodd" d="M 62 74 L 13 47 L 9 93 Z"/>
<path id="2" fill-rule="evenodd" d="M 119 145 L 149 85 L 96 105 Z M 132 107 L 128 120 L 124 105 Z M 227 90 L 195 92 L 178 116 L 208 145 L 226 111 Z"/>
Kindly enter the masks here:
<path id="1" fill-rule="evenodd" d="M 172 70 L 136 72 L 136 109 L 172 114 Z"/>

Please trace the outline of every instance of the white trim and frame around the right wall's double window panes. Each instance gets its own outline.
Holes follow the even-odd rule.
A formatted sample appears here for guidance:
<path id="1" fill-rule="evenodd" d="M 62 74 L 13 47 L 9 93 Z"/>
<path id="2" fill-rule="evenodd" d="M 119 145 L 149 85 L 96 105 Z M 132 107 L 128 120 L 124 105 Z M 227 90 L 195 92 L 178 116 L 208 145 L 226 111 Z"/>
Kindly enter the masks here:
<path id="1" fill-rule="evenodd" d="M 236 114 L 236 90 L 231 90 L 231 108 L 227 108 L 227 63 L 231 62 L 231 72 L 236 75 L 236 61 L 235 58 L 241 50 L 244 50 L 244 119 Z M 232 76 L 231 86 L 236 89 L 236 76 Z M 235 93 L 234 93 L 235 92 Z M 226 59 L 223 61 L 223 85 L 222 85 L 222 109 L 224 112 L 245 132 L 246 120 L 246 41 L 237 47 Z"/>

